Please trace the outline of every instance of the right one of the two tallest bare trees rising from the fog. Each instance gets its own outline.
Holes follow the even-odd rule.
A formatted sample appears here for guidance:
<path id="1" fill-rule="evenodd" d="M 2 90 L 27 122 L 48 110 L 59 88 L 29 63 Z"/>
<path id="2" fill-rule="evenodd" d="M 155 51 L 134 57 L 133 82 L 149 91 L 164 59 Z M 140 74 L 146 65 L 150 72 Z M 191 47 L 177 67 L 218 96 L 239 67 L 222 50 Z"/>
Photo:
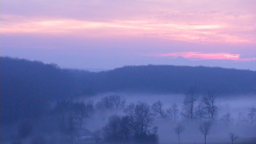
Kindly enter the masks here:
<path id="1" fill-rule="evenodd" d="M 203 97 L 202 103 L 208 118 L 213 119 L 217 116 L 217 106 L 216 106 L 216 93 L 214 91 L 208 91 L 207 95 Z"/>

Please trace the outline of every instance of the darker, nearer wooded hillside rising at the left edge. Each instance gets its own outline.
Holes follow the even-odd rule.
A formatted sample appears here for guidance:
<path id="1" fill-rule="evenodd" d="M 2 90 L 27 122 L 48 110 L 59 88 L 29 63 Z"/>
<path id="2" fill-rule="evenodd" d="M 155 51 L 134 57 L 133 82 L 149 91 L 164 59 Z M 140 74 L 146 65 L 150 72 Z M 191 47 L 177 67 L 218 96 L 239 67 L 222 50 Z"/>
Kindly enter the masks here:
<path id="1" fill-rule="evenodd" d="M 55 64 L 1 57 L 1 120 L 37 117 L 47 102 L 74 95 L 73 79 Z"/>

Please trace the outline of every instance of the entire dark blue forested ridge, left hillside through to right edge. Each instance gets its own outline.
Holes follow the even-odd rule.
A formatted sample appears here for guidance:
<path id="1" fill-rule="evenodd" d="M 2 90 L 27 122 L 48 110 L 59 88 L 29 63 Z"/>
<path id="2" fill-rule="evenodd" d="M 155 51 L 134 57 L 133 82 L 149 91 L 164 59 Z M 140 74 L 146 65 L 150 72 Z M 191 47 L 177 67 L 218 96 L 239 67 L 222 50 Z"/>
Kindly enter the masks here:
<path id="1" fill-rule="evenodd" d="M 102 92 L 185 93 L 191 86 L 218 94 L 256 93 L 256 72 L 218 67 L 125 66 L 110 71 L 60 69 L 56 64 L 1 57 L 1 123 L 47 113 L 56 100 Z"/>

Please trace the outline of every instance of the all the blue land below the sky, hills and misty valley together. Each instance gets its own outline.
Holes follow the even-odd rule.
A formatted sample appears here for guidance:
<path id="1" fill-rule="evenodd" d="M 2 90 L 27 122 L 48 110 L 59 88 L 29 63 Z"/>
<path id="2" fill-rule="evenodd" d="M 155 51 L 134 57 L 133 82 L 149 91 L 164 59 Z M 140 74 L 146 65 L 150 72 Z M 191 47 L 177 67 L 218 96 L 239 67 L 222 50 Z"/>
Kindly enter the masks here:
<path id="1" fill-rule="evenodd" d="M 147 65 L 90 72 L 1 57 L 1 140 L 201 144 L 208 124 L 206 143 L 230 143 L 230 136 L 255 143 L 255 92 L 250 70 Z"/>

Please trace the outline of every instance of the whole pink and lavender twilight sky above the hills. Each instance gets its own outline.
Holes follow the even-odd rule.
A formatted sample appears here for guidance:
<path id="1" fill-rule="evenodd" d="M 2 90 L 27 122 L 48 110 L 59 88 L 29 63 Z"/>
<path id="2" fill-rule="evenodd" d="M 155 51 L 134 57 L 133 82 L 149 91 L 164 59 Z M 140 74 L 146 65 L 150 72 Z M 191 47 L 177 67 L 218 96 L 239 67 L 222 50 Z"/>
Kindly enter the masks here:
<path id="1" fill-rule="evenodd" d="M 255 0 L 2 0 L 1 56 L 62 68 L 256 70 Z"/>

